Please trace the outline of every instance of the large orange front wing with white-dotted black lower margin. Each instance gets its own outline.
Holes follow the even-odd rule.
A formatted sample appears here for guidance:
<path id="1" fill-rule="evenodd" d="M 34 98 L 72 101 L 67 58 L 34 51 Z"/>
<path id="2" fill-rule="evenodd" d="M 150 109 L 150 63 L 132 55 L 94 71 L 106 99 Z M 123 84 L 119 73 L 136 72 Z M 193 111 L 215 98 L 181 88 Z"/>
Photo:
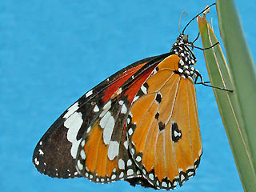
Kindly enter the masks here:
<path id="1" fill-rule="evenodd" d="M 194 176 L 202 155 L 194 83 L 170 55 L 144 82 L 127 117 L 130 154 L 153 186 L 174 189 Z"/>

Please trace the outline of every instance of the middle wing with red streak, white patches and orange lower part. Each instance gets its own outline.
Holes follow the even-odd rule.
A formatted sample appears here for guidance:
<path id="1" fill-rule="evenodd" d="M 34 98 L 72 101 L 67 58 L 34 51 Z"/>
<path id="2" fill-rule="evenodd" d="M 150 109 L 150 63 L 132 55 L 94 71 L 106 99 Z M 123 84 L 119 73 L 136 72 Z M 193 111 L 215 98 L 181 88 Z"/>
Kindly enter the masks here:
<path id="1" fill-rule="evenodd" d="M 93 182 L 128 180 L 132 185 L 142 183 L 142 174 L 128 150 L 126 117 L 134 96 L 166 54 L 154 58 L 130 77 L 102 107 L 90 123 L 78 147 L 77 170 Z"/>

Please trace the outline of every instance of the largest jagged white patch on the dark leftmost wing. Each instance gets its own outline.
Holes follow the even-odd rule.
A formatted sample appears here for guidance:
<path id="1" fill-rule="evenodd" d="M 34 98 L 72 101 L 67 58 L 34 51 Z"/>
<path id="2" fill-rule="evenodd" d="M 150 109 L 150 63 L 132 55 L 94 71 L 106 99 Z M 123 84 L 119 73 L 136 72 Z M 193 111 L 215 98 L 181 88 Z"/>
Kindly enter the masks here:
<path id="1" fill-rule="evenodd" d="M 77 140 L 78 131 L 82 126 L 82 114 L 75 112 L 64 122 L 64 126 L 69 129 L 67 131 L 67 140 L 72 143 L 70 154 L 75 159 L 77 156 L 78 145 L 81 139 Z"/>

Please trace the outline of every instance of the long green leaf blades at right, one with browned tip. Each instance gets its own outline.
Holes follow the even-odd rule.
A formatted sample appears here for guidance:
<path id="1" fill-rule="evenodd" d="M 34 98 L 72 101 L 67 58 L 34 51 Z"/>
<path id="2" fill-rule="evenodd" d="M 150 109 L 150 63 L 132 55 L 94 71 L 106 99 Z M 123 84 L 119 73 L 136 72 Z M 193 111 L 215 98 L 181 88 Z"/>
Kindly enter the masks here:
<path id="1" fill-rule="evenodd" d="M 256 84 L 254 83 L 256 81 L 254 63 L 250 58 L 250 53 L 246 52 L 248 48 L 243 38 L 241 26 L 234 25 L 234 23 L 239 24 L 238 16 L 234 15 L 236 11 L 232 10 L 234 7 L 230 6 L 228 3 L 230 1 L 220 2 L 226 3 L 226 8 L 218 4 L 219 2 L 217 2 L 217 7 L 220 30 L 222 31 L 222 39 L 226 47 L 230 68 L 226 64 L 219 45 L 204 50 L 206 66 L 213 86 L 233 90 L 230 93 L 214 89 L 214 95 L 229 138 L 242 186 L 245 191 L 256 191 L 256 104 L 254 103 L 254 98 L 256 98 Z M 233 24 L 230 26 L 230 23 Z M 198 25 L 204 48 L 218 42 L 206 18 L 198 17 Z M 239 46 L 242 47 L 238 48 Z M 250 74 L 248 74 L 248 70 L 250 70 Z M 248 81 L 250 81 L 249 84 Z M 251 95 L 248 96 L 248 93 Z M 248 119 L 248 117 L 250 118 Z"/>

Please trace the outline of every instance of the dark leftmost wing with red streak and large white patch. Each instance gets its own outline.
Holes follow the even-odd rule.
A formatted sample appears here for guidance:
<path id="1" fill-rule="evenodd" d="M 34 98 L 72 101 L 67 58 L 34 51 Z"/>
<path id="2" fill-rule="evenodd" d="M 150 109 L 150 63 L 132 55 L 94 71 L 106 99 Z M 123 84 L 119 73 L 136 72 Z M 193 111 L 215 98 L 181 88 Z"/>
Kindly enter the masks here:
<path id="1" fill-rule="evenodd" d="M 74 102 L 38 142 L 33 154 L 33 162 L 37 170 L 53 178 L 81 177 L 75 169 L 75 159 L 78 144 L 86 128 L 111 95 L 154 58 L 142 59 L 119 70 Z"/>

